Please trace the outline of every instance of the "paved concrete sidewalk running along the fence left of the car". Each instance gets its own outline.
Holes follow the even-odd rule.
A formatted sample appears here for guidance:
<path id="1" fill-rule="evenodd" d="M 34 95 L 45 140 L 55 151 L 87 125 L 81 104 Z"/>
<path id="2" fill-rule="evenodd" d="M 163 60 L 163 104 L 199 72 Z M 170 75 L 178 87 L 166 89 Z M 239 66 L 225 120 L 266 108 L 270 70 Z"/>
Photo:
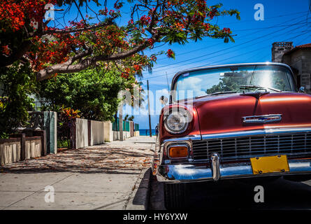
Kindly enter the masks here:
<path id="1" fill-rule="evenodd" d="M 0 167 L 0 209 L 144 209 L 154 141 L 132 137 Z M 55 202 L 45 202 L 46 186 Z"/>

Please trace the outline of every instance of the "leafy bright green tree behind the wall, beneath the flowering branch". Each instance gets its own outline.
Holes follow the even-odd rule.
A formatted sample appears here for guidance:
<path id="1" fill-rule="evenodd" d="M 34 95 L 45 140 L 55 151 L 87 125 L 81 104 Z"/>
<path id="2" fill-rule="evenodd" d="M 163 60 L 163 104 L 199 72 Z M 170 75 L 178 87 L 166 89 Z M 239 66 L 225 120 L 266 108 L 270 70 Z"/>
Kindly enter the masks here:
<path id="1" fill-rule="evenodd" d="M 116 71 L 89 69 L 42 81 L 38 97 L 43 99 L 43 110 L 59 111 L 64 105 L 78 109 L 82 118 L 113 120 L 120 102 L 117 94 L 128 83 Z"/>

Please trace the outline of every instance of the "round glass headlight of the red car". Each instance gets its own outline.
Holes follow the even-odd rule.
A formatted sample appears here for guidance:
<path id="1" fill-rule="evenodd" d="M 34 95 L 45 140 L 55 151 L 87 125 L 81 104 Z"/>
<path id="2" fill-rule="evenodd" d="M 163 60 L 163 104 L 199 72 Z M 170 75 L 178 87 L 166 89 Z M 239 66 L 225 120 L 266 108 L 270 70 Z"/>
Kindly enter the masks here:
<path id="1" fill-rule="evenodd" d="M 164 127 L 172 134 L 180 134 L 185 132 L 189 125 L 189 114 L 186 110 L 173 111 L 164 119 Z"/>

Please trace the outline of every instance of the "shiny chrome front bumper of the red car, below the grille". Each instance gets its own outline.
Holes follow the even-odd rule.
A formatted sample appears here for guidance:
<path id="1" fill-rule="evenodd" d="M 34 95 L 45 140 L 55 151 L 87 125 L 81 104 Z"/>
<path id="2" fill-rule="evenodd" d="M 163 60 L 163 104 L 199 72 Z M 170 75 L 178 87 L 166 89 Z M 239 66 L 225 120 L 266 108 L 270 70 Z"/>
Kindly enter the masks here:
<path id="1" fill-rule="evenodd" d="M 168 183 L 311 174 L 311 159 L 289 160 L 288 162 L 289 172 L 275 172 L 269 174 L 253 174 L 250 162 L 221 165 L 217 157 L 212 158 L 212 168 L 198 165 L 159 165 L 154 168 L 157 169 L 157 180 Z"/>

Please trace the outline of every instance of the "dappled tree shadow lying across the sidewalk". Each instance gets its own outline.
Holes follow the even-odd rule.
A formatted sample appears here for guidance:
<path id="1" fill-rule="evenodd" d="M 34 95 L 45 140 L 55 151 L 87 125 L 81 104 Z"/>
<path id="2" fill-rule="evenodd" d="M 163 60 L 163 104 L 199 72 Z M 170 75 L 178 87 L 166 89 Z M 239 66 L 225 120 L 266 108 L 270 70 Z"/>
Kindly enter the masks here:
<path id="1" fill-rule="evenodd" d="M 84 174 L 140 174 L 151 153 L 124 148 L 80 148 L 0 167 L 1 173 L 79 172 Z"/>

